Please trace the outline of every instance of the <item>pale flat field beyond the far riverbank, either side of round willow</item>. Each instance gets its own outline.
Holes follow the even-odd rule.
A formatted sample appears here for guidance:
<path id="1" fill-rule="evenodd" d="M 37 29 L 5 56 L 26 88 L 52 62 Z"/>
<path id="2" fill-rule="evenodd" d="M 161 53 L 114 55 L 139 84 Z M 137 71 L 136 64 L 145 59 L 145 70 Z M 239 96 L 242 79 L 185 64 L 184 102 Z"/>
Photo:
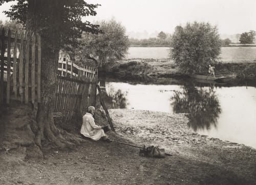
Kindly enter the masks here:
<path id="1" fill-rule="evenodd" d="M 168 58 L 168 50 L 168 47 L 130 47 L 126 58 Z M 256 62 L 256 47 L 222 47 L 221 51 L 223 62 Z"/>

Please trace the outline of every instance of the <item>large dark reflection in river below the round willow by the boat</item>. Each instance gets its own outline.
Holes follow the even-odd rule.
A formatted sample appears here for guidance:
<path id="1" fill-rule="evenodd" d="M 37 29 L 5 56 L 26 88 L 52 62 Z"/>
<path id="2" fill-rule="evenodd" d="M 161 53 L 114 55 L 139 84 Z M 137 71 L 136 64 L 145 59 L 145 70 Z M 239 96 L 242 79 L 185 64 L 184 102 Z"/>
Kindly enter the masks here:
<path id="1" fill-rule="evenodd" d="M 183 92 L 176 91 L 170 99 L 174 113 L 189 113 L 189 126 L 195 131 L 205 128 L 208 130 L 211 125 L 217 127 L 221 108 L 214 87 L 205 89 L 185 85 Z"/>

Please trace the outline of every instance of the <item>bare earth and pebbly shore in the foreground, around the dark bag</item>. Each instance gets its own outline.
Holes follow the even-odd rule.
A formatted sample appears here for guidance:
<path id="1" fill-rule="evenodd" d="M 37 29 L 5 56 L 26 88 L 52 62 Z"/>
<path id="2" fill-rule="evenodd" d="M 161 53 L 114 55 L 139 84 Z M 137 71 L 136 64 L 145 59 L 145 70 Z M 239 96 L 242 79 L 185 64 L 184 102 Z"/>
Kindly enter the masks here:
<path id="1" fill-rule="evenodd" d="M 25 160 L 23 147 L 0 153 L 0 184 L 255 184 L 256 151 L 192 133 L 183 114 L 110 110 L 112 140 L 161 145 L 173 156 L 141 157 L 116 142 L 85 142 Z M 158 125 L 156 125 L 158 123 Z"/>

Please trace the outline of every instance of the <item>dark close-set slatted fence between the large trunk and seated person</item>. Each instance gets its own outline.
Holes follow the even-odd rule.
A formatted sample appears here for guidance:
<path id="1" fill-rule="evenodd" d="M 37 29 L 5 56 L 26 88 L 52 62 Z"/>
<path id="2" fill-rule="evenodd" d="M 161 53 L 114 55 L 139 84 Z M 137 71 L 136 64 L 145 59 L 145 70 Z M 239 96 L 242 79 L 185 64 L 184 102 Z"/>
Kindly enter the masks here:
<path id="1" fill-rule="evenodd" d="M 65 112 L 66 119 L 75 112 L 84 114 L 90 105 L 96 103 L 96 77 L 57 76 L 54 112 Z"/>

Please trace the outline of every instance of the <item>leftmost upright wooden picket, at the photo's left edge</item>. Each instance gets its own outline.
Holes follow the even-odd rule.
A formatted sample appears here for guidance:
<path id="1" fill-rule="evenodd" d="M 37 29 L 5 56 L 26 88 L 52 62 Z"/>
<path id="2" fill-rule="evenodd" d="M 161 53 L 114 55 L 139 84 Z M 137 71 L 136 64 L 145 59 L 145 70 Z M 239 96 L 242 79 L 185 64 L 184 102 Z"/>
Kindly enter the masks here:
<path id="1" fill-rule="evenodd" d="M 1 32 L 1 74 L 0 74 L 0 103 L 4 102 L 4 65 L 5 65 L 5 29 Z"/>

